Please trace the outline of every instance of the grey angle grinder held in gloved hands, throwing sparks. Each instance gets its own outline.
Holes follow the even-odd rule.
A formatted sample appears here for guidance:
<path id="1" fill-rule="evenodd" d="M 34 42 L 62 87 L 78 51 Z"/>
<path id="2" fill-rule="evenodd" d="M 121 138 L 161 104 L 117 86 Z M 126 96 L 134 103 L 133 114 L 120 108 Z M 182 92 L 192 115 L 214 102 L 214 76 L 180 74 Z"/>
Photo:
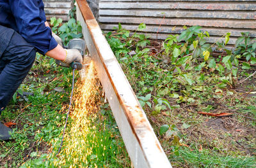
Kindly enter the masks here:
<path id="1" fill-rule="evenodd" d="M 63 46 L 63 48 L 66 49 L 77 49 L 82 57 L 83 57 L 83 64 L 81 64 L 80 62 L 72 62 L 70 65 L 65 64 L 64 62 L 60 61 L 60 60 L 55 60 L 56 64 L 58 64 L 59 66 L 63 66 L 63 67 L 72 67 L 72 69 L 77 69 L 80 71 L 84 71 L 83 67 L 88 66 L 88 62 L 90 61 L 90 57 L 89 54 L 86 54 L 86 44 L 84 39 L 71 39 L 68 43 L 68 46 Z M 81 72 L 83 73 L 83 72 Z M 83 77 L 83 74 L 81 75 Z"/>

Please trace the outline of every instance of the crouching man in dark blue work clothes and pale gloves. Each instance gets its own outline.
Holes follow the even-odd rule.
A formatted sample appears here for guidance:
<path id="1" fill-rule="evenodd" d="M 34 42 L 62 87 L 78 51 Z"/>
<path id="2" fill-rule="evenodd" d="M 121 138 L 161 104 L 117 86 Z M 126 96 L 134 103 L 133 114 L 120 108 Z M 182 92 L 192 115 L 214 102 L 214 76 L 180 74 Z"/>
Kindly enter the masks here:
<path id="1" fill-rule="evenodd" d="M 0 0 L 0 115 L 28 74 L 36 52 L 66 64 L 82 62 L 78 50 L 65 50 L 52 33 L 42 0 Z M 10 131 L 0 122 L 0 139 L 10 139 Z"/>

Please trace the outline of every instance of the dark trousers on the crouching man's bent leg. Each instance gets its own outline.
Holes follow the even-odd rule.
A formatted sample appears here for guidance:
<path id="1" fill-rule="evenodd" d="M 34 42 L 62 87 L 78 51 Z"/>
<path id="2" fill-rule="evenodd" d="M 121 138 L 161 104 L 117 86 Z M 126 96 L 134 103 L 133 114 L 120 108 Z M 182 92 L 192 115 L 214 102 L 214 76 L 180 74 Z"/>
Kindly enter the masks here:
<path id="1" fill-rule="evenodd" d="M 27 76 L 36 50 L 20 34 L 0 25 L 0 115 Z"/>

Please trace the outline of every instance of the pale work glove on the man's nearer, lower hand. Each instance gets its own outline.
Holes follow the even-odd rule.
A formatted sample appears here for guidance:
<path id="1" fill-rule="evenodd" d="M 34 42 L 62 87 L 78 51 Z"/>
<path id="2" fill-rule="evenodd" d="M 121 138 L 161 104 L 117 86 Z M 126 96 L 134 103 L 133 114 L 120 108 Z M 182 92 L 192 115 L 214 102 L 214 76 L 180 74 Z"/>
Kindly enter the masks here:
<path id="1" fill-rule="evenodd" d="M 83 63 L 83 57 L 81 53 L 76 49 L 65 49 L 66 50 L 66 58 L 63 60 L 66 64 L 71 64 L 72 62 L 80 62 Z"/>

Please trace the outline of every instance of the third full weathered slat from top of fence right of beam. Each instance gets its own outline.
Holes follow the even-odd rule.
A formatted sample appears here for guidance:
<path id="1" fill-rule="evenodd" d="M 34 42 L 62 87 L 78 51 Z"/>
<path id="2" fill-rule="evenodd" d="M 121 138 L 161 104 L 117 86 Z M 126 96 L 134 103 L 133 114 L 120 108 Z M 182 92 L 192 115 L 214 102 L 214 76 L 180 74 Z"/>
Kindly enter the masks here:
<path id="1" fill-rule="evenodd" d="M 151 25 L 200 25 L 204 27 L 225 27 L 239 29 L 256 29 L 255 20 L 209 20 L 209 19 L 180 19 L 180 18 L 142 18 L 142 17 L 99 17 L 102 23 L 121 24 L 151 24 Z"/>

